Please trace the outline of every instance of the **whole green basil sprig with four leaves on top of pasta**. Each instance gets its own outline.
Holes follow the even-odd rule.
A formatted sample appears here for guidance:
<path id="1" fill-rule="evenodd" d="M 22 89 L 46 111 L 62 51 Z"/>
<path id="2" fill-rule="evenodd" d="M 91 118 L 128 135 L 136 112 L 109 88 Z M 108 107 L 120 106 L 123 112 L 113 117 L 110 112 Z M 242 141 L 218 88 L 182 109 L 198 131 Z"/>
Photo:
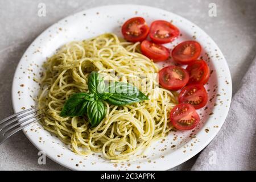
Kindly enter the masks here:
<path id="1" fill-rule="evenodd" d="M 106 88 L 99 73 L 92 72 L 88 78 L 89 93 L 75 93 L 65 102 L 61 117 L 87 115 L 92 127 L 96 127 L 106 116 L 106 105 L 103 101 L 116 106 L 125 106 L 148 100 L 142 92 L 125 82 L 114 82 Z"/>

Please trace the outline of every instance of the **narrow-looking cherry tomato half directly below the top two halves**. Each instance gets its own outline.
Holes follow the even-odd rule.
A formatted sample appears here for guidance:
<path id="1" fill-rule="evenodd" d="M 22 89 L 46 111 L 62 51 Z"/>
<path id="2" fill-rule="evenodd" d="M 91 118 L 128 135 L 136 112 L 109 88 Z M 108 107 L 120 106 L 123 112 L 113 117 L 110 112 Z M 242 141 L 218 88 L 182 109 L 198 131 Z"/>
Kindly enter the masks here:
<path id="1" fill-rule="evenodd" d="M 166 47 L 152 43 L 148 40 L 143 40 L 141 43 L 141 52 L 149 59 L 155 62 L 167 60 L 170 56 L 170 51 Z"/>

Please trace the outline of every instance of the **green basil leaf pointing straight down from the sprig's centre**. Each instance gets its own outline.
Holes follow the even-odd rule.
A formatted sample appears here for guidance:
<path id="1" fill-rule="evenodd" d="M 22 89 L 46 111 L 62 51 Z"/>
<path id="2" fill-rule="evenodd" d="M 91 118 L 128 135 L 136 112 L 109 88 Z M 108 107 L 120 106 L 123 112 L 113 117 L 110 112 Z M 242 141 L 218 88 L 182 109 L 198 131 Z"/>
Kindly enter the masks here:
<path id="1" fill-rule="evenodd" d="M 101 100 L 89 101 L 87 105 L 87 115 L 92 127 L 100 124 L 106 115 L 106 105 Z"/>

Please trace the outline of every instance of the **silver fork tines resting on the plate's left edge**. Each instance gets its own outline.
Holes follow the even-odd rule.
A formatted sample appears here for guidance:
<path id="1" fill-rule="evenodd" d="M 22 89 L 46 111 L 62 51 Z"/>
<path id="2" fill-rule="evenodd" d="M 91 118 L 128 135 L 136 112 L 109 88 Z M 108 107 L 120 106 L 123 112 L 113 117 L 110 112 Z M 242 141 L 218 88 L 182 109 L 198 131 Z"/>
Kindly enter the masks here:
<path id="1" fill-rule="evenodd" d="M 5 140 L 7 138 L 11 137 L 11 135 L 24 129 L 24 127 L 27 127 L 28 125 L 42 119 L 43 118 L 42 113 L 36 114 L 38 111 L 39 111 L 39 109 L 36 109 L 34 107 L 34 108 L 20 111 L 19 113 L 10 115 L 9 117 L 2 119 L 0 121 L 0 144 L 5 142 Z M 30 115 L 32 115 L 32 116 L 30 116 Z M 41 116 L 41 117 L 36 118 L 39 116 Z M 35 119 L 35 120 L 33 120 L 33 119 Z M 24 123 L 24 125 L 21 125 L 23 123 Z"/>

